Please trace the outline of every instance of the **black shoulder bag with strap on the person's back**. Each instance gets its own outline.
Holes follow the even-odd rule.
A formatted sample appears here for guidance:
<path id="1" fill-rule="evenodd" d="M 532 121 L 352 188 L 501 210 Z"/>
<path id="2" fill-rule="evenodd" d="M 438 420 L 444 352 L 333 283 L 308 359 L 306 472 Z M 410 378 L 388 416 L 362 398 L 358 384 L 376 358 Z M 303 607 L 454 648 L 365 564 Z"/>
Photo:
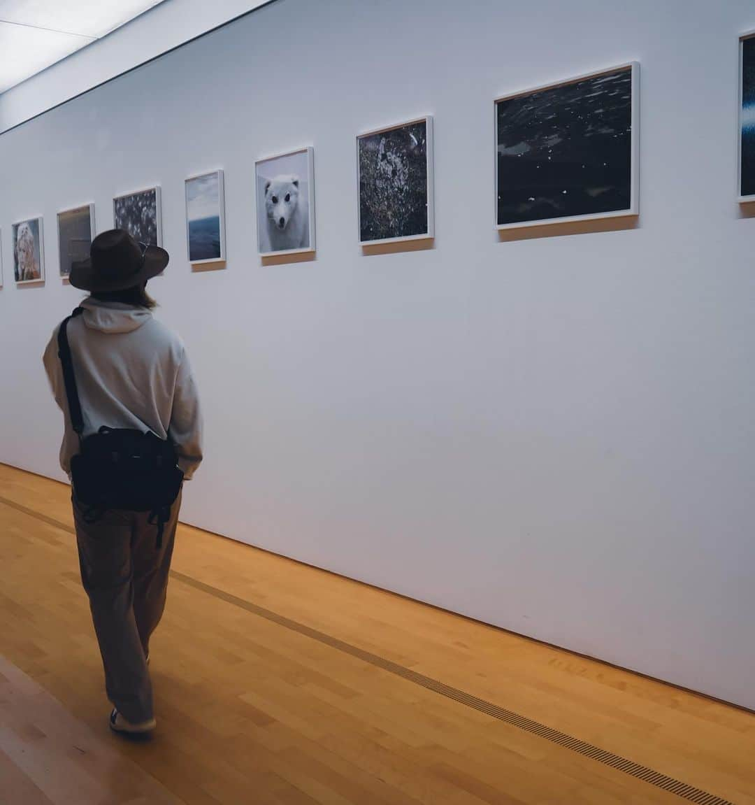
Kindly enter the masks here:
<path id="1" fill-rule="evenodd" d="M 83 308 L 76 308 L 58 331 L 58 355 L 63 366 L 68 413 L 80 444 L 80 452 L 71 460 L 73 492 L 76 501 L 89 510 L 89 516 L 93 514 L 93 519 L 109 509 L 150 512 L 150 522 L 157 525 L 159 548 L 184 473 L 178 467 L 171 441 L 160 439 L 151 431 L 103 426 L 92 436 L 82 436 L 84 415 L 66 331 L 68 322 L 83 312 Z"/>

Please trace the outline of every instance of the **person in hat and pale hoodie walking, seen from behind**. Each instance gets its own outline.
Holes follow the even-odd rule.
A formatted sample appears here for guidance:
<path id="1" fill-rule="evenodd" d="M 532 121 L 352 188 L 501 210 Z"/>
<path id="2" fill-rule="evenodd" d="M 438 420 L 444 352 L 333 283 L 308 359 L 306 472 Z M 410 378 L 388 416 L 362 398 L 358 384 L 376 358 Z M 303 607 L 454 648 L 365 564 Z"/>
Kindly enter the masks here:
<path id="1" fill-rule="evenodd" d="M 64 413 L 81 580 L 113 704 L 109 725 L 150 733 L 148 663 L 166 601 L 181 489 L 202 460 L 196 382 L 179 336 L 152 316 L 146 283 L 167 251 L 122 229 L 98 235 L 70 283 L 89 291 L 43 356 Z"/>

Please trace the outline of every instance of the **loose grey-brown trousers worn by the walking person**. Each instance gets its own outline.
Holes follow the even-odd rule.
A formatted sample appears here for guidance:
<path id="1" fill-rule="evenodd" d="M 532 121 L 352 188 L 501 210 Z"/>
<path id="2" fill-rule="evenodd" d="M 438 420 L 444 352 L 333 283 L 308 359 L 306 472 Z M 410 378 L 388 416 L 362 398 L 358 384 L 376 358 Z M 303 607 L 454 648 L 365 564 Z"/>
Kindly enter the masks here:
<path id="1" fill-rule="evenodd" d="M 105 689 L 133 723 L 155 715 L 146 655 L 165 609 L 180 506 L 179 494 L 158 550 L 157 526 L 148 522 L 148 514 L 108 511 L 87 522 L 85 511 L 73 502 L 81 581 L 105 666 Z"/>

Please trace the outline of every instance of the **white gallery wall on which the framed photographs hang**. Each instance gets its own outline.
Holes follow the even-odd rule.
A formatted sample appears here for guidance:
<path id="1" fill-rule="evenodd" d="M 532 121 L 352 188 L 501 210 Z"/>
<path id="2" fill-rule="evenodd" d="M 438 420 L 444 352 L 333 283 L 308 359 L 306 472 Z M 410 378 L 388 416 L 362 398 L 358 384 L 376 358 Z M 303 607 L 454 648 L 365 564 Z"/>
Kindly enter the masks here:
<path id="1" fill-rule="evenodd" d="M 151 291 L 206 416 L 187 522 L 755 708 L 753 27 L 750 0 L 279 0 L 3 134 L 0 460 L 61 477 L 56 213 L 109 229 L 159 184 Z M 499 240 L 493 98 L 629 60 L 637 226 Z M 434 246 L 362 254 L 355 136 L 423 114 Z M 262 265 L 254 160 L 307 145 L 316 259 Z M 192 272 L 184 178 L 219 167 L 227 266 Z M 16 287 L 37 215 L 47 281 Z"/>

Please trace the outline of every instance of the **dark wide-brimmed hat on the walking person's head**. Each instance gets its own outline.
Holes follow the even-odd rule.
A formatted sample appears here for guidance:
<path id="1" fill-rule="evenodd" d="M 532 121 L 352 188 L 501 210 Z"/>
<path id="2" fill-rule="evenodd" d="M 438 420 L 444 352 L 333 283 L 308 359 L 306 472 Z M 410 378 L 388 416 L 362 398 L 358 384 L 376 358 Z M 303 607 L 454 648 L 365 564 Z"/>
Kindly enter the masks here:
<path id="1" fill-rule="evenodd" d="M 94 238 L 89 259 L 71 266 L 69 282 L 82 291 L 125 291 L 162 274 L 170 255 L 159 246 L 138 243 L 123 229 Z"/>

